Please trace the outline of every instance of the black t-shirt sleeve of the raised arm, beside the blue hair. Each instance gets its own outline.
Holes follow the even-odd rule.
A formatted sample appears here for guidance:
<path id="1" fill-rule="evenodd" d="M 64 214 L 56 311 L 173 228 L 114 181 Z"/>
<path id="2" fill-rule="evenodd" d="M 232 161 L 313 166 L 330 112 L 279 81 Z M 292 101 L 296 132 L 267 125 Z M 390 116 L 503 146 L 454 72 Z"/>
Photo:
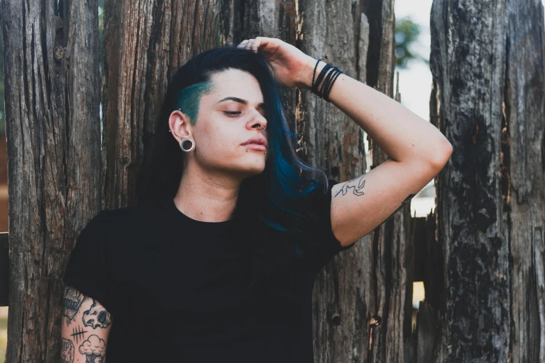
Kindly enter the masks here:
<path id="1" fill-rule="evenodd" d="M 319 220 L 313 223 L 310 235 L 313 239 L 313 246 L 303 254 L 303 261 L 308 270 L 312 273 L 319 273 L 320 270 L 339 252 L 352 248 L 354 242 L 343 247 L 331 230 L 331 189 L 338 181 L 329 179 L 328 188 L 324 194 L 324 184 L 319 184 L 309 193 L 307 205 L 312 208 Z"/>

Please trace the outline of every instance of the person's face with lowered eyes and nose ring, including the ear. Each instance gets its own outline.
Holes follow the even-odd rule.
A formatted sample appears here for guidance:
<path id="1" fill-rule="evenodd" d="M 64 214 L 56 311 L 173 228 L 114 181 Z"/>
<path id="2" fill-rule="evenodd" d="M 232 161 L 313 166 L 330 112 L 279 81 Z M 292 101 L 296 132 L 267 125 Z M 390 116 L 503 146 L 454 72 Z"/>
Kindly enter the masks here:
<path id="1" fill-rule="evenodd" d="M 258 80 L 247 72 L 230 69 L 214 74 L 212 82 L 212 91 L 200 99 L 195 124 L 180 111 L 173 111 L 169 119 L 178 144 L 186 138 L 195 142 L 195 148 L 185 154 L 188 170 L 201 168 L 240 180 L 260 174 L 269 145 Z M 267 145 L 242 145 L 250 138 L 264 138 Z M 189 147 L 191 143 L 184 143 L 184 148 Z"/>

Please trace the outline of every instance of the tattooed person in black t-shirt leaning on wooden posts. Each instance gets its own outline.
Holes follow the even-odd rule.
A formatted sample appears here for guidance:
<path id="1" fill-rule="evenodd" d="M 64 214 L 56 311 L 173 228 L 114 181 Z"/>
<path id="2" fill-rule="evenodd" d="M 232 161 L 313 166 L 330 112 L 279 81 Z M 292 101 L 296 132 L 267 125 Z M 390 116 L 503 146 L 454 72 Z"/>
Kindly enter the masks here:
<path id="1" fill-rule="evenodd" d="M 138 205 L 101 211 L 74 246 L 63 362 L 314 361 L 315 277 L 452 153 L 432 124 L 342 72 L 320 77 L 324 67 L 258 37 L 177 70 Z M 279 101 L 293 87 L 326 95 L 390 159 L 340 183 L 303 163 Z"/>

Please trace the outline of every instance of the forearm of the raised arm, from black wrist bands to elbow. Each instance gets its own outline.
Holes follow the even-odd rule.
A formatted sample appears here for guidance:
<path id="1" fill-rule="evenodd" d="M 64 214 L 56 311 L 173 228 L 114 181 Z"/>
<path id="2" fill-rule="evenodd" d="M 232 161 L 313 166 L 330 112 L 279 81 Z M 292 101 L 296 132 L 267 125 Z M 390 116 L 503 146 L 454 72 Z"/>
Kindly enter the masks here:
<path id="1" fill-rule="evenodd" d="M 308 58 L 299 85 L 310 90 L 317 60 Z M 325 65 L 319 62 L 315 81 Z M 352 118 L 394 161 L 425 161 L 442 168 L 450 157 L 452 145 L 434 125 L 346 74 L 340 74 L 333 83 L 329 101 Z"/>

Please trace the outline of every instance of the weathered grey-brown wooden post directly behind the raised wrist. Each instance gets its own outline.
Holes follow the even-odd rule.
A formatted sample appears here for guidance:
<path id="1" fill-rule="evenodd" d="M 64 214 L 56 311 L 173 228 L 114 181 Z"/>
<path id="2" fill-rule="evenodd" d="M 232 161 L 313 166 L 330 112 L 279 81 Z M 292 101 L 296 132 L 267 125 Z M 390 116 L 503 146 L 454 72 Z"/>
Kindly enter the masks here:
<path id="1" fill-rule="evenodd" d="M 301 50 L 365 81 L 369 43 L 360 1 L 299 1 Z M 352 8 L 357 9 L 352 13 Z M 363 35 L 363 38 L 362 38 Z M 365 64 L 365 63 L 364 63 Z M 326 174 L 347 181 L 365 173 L 363 130 L 339 108 L 308 90 L 297 97 L 299 156 Z M 315 362 L 366 362 L 368 321 L 374 313 L 372 241 L 366 236 L 316 277 L 313 289 Z"/>

